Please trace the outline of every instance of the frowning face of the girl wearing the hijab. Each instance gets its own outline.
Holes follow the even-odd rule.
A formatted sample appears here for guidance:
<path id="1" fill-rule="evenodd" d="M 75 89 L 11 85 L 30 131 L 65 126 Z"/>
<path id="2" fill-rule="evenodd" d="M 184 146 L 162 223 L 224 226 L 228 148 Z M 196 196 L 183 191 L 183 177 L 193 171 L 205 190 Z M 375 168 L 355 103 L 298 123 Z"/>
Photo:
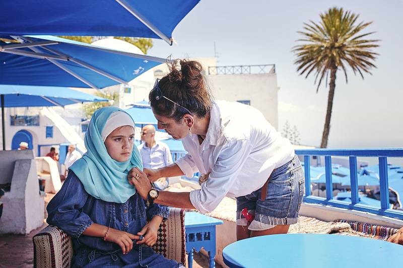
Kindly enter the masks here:
<path id="1" fill-rule="evenodd" d="M 135 130 L 132 126 L 122 126 L 112 131 L 104 142 L 106 150 L 112 159 L 125 162 L 131 157 Z"/>

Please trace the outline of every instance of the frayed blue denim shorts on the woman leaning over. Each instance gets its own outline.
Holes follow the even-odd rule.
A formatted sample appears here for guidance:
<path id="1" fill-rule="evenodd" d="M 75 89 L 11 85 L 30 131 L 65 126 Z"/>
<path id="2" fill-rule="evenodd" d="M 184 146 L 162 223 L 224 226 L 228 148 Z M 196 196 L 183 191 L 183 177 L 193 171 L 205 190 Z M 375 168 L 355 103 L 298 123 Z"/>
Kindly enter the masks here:
<path id="1" fill-rule="evenodd" d="M 247 226 L 247 221 L 241 214 L 244 208 L 254 215 L 249 230 L 262 231 L 277 225 L 297 223 L 304 192 L 304 170 L 295 155 L 291 161 L 272 172 L 264 201 L 260 199 L 261 189 L 236 198 L 236 223 Z"/>

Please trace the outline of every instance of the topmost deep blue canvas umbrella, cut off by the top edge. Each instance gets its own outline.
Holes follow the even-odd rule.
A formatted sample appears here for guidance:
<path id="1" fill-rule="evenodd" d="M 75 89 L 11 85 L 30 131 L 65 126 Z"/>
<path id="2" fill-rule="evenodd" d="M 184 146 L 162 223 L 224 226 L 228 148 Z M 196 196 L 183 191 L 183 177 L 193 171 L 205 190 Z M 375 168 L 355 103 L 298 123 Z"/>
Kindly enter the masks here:
<path id="1" fill-rule="evenodd" d="M 164 39 L 199 0 L 0 1 L 0 35 L 132 36 Z"/>

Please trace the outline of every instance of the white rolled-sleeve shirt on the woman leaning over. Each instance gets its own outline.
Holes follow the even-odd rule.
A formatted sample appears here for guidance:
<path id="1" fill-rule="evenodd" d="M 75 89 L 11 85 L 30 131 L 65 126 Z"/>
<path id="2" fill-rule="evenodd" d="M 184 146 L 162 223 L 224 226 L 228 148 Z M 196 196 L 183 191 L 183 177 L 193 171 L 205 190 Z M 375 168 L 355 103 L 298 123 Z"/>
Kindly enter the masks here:
<path id="1" fill-rule="evenodd" d="M 208 172 L 200 190 L 190 192 L 193 207 L 213 211 L 225 197 L 245 196 L 260 189 L 273 169 L 295 155 L 290 141 L 276 131 L 257 109 L 216 101 L 211 110 L 206 139 L 182 139 L 187 154 L 175 161 L 186 176 Z"/>

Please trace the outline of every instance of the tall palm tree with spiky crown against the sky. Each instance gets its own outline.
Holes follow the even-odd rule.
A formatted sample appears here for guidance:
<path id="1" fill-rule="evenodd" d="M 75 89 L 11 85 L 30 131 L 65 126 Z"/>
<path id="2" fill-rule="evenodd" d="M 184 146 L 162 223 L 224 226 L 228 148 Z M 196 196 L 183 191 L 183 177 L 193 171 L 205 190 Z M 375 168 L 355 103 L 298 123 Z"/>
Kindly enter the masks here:
<path id="1" fill-rule="evenodd" d="M 297 41 L 305 42 L 297 45 L 293 51 L 297 56 L 295 64 L 300 74 L 306 73 L 305 78 L 315 71 L 315 83 L 319 78 L 316 93 L 323 78 L 327 79 L 330 73 L 329 95 L 327 98 L 326 119 L 323 128 L 321 148 L 327 147 L 330 130 L 331 109 L 333 106 L 336 72 L 342 69 L 347 79 L 346 67 L 350 66 L 354 74 L 358 72 L 364 79 L 363 72 L 370 73 L 369 69 L 376 66 L 372 63 L 378 53 L 372 48 L 378 47 L 379 40 L 365 40 L 364 37 L 373 32 L 363 34 L 362 30 L 372 22 L 356 24 L 359 15 L 344 11 L 342 8 L 331 8 L 320 14 L 321 21 L 310 24 L 304 23 L 306 32 L 298 32 L 303 38 Z"/>

